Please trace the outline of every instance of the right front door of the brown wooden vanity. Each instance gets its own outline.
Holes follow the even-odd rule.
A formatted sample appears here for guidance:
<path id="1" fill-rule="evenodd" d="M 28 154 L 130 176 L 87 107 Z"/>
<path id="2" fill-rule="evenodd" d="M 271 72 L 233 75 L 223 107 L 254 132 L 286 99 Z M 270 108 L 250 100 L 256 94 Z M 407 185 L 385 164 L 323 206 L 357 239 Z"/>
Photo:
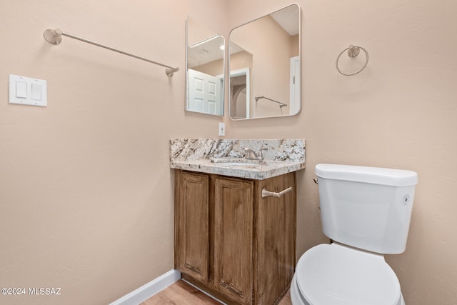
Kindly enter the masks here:
<path id="1" fill-rule="evenodd" d="M 239 304 L 252 301 L 253 182 L 214 181 L 214 285 Z"/>

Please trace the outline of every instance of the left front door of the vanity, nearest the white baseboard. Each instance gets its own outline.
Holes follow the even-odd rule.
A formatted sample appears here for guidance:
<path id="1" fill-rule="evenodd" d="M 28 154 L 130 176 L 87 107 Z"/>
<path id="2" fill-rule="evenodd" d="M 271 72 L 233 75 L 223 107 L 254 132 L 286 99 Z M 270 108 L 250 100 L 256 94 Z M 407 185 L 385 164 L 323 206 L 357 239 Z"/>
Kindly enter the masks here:
<path id="1" fill-rule="evenodd" d="M 175 177 L 175 266 L 208 283 L 209 176 L 176 171 Z"/>

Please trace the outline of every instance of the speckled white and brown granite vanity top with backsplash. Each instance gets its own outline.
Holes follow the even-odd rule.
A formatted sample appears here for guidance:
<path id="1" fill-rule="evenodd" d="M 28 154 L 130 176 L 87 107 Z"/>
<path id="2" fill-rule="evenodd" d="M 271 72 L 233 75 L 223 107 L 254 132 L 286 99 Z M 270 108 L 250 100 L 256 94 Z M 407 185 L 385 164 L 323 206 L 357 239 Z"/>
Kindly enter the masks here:
<path id="1" fill-rule="evenodd" d="M 266 148 L 265 160 L 243 158 L 243 147 Z M 236 164 L 233 164 L 236 163 Z M 170 168 L 263 180 L 305 168 L 303 139 L 171 139 Z"/>

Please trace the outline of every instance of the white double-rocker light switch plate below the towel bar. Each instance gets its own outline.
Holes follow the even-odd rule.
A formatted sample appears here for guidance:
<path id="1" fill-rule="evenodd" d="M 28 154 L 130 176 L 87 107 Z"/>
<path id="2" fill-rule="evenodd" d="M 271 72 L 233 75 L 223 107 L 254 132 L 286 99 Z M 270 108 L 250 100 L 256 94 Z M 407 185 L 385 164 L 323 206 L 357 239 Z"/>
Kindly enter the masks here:
<path id="1" fill-rule="evenodd" d="M 44 79 L 9 74 L 9 104 L 48 106 Z"/>

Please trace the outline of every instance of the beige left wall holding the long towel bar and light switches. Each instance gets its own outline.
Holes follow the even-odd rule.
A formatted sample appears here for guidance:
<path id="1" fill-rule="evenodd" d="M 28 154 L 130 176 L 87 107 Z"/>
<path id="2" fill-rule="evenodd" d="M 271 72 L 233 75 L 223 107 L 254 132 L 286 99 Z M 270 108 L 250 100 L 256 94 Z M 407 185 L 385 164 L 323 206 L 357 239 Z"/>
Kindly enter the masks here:
<path id="1" fill-rule="evenodd" d="M 0 1 L 0 287 L 61 287 L 0 304 L 108 304 L 173 269 L 169 139 L 221 120 L 184 112 L 188 14 L 226 29 L 223 0 Z M 8 104 L 8 74 L 46 79 L 48 106 Z"/>

